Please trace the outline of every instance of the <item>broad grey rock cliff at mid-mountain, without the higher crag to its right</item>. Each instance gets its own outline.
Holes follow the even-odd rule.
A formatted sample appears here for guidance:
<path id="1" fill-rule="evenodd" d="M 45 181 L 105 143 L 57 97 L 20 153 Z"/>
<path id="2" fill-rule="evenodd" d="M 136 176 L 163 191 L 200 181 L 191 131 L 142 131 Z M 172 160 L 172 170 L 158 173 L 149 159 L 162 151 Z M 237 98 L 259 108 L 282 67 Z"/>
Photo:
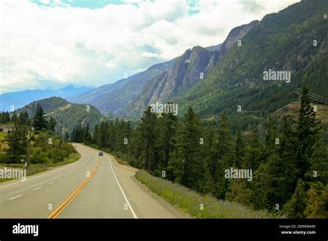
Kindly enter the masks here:
<path id="1" fill-rule="evenodd" d="M 210 67 L 218 60 L 218 51 L 207 51 L 196 46 L 188 49 L 177 58 L 167 71 L 156 75 L 143 88 L 138 98 L 119 114 L 122 116 L 138 116 L 143 109 L 155 102 L 167 102 L 196 84 Z"/>

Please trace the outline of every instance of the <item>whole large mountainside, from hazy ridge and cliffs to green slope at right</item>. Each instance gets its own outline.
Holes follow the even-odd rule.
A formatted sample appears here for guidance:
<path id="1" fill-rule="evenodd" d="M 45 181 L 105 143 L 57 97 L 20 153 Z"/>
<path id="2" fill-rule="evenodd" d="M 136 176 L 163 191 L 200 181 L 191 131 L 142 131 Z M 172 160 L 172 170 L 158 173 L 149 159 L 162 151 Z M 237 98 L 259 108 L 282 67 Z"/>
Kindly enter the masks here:
<path id="1" fill-rule="evenodd" d="M 313 102 L 327 105 L 327 12 L 327 0 L 303 0 L 233 28 L 222 44 L 195 46 L 113 84 L 66 94 L 66 99 L 121 117 L 138 118 L 147 105 L 167 101 L 179 104 L 179 114 L 189 105 L 201 116 L 233 113 L 238 105 L 264 113 L 297 100 L 295 91 L 307 84 L 318 95 Z M 268 71 L 290 74 L 291 81 L 265 80 Z"/>

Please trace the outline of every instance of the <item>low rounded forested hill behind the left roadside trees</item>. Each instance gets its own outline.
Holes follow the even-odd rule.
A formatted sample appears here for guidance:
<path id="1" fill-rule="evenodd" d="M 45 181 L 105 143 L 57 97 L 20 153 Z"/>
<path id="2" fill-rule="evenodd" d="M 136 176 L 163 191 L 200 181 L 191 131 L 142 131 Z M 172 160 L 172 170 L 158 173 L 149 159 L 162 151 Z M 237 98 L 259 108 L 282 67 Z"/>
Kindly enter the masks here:
<path id="1" fill-rule="evenodd" d="M 28 105 L 34 104 L 36 106 L 38 103 L 44 108 L 47 117 L 50 118 L 51 115 L 55 117 L 57 120 L 57 128 L 59 126 L 58 122 L 63 120 L 64 130 L 67 130 L 69 133 L 71 133 L 73 127 L 79 123 L 82 125 L 89 123 L 90 127 L 93 128 L 102 119 L 100 111 L 92 105 L 89 105 L 90 108 L 88 108 L 86 105 L 70 103 L 60 97 L 36 100 L 30 102 Z M 17 113 L 25 109 L 26 107 L 18 109 Z M 90 111 L 87 111 L 87 109 L 90 109 Z M 28 114 L 30 114 L 30 111 L 28 111 Z"/>

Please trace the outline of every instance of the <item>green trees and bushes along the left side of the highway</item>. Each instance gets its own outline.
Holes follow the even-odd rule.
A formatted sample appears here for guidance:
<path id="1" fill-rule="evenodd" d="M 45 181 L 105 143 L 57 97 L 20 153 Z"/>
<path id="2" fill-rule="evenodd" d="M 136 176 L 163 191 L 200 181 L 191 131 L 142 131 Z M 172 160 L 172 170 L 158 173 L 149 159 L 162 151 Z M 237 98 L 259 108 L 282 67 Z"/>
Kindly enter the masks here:
<path id="1" fill-rule="evenodd" d="M 13 125 L 8 133 L 1 134 L 0 168 L 26 168 L 28 153 L 28 130 L 30 119 L 26 111 L 17 116 L 15 112 L 10 116 L 8 112 L 0 114 L 1 124 Z M 57 122 L 53 116 L 48 120 L 44 116 L 43 108 L 37 105 L 33 118 L 34 131 L 31 136 L 30 165 L 26 175 L 35 175 L 55 166 L 62 166 L 80 158 L 73 145 L 67 139 L 60 141 L 60 135 L 55 132 Z M 10 179 L 0 178 L 0 182 Z"/>

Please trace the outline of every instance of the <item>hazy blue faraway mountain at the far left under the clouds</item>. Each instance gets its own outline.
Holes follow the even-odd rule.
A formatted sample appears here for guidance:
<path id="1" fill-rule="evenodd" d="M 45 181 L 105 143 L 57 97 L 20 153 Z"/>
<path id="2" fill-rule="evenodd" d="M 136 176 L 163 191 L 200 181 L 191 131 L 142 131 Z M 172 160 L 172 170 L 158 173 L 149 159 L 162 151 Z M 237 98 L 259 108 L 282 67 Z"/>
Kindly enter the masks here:
<path id="1" fill-rule="evenodd" d="M 84 93 L 91 90 L 89 87 L 74 87 L 72 84 L 62 89 L 52 90 L 32 90 L 28 89 L 25 91 L 14 91 L 9 93 L 0 94 L 0 111 L 10 111 L 11 106 L 15 109 L 19 109 L 29 102 L 34 100 L 41 100 L 49 98 L 51 96 L 59 96 L 66 98 L 78 93 Z"/>

